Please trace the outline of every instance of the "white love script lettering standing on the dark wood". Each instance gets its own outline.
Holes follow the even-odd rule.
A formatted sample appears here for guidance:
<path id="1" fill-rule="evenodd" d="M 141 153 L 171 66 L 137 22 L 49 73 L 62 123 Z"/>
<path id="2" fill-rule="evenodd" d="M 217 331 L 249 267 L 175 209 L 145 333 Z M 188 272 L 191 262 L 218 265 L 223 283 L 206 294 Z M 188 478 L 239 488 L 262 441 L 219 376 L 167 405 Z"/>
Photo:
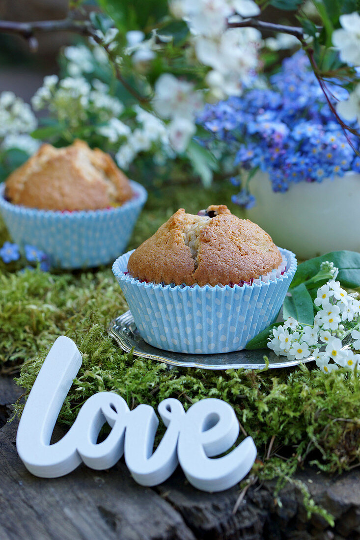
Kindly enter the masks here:
<path id="1" fill-rule="evenodd" d="M 154 451 L 159 423 L 154 409 L 141 404 L 130 411 L 121 396 L 100 392 L 84 403 L 68 433 L 50 444 L 57 416 L 81 363 L 75 343 L 61 336 L 32 387 L 16 438 L 18 454 L 32 474 L 63 476 L 82 461 L 92 469 L 108 469 L 123 454 L 131 475 L 141 485 L 164 482 L 178 463 L 189 482 L 204 491 L 228 489 L 248 474 L 256 457 L 251 437 L 229 454 L 213 457 L 228 450 L 239 433 L 234 410 L 218 399 L 194 403 L 186 413 L 176 399 L 159 403 L 166 432 Z M 97 443 L 106 422 L 111 431 Z"/>

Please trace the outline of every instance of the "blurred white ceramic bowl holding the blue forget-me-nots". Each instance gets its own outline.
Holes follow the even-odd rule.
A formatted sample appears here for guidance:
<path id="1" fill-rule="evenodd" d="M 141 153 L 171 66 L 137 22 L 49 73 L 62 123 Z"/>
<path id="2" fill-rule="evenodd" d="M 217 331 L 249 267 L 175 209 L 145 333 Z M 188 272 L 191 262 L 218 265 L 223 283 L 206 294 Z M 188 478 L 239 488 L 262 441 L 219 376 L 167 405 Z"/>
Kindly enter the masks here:
<path id="1" fill-rule="evenodd" d="M 268 174 L 259 172 L 250 186 L 257 203 L 247 217 L 276 245 L 300 259 L 340 249 L 360 252 L 359 173 L 321 183 L 299 182 L 285 193 L 274 193 Z"/>

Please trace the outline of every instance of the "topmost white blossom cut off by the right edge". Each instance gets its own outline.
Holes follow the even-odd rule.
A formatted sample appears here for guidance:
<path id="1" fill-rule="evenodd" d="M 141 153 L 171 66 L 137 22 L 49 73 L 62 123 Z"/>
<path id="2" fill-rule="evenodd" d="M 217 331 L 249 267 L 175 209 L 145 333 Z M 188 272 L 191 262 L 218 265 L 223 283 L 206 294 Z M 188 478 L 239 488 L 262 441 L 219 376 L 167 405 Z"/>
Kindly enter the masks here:
<path id="1" fill-rule="evenodd" d="M 345 64 L 360 65 L 360 16 L 354 13 L 341 15 L 341 29 L 332 32 L 332 43 L 339 49 Z"/>

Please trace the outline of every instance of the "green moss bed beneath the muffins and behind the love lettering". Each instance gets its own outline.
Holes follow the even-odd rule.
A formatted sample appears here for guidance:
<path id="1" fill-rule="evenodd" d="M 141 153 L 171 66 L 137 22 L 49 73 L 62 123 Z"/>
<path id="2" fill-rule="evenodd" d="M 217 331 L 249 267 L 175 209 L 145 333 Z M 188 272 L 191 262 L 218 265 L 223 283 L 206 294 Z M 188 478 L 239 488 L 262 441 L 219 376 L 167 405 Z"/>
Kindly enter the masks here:
<path id="1" fill-rule="evenodd" d="M 227 203 L 231 188 L 215 186 L 216 190 L 214 194 L 188 187 L 174 193 L 169 187 L 161 197 L 152 193 L 129 247 L 148 238 L 179 206 L 196 212 L 214 201 Z M 212 372 L 169 368 L 123 354 L 106 334 L 111 319 L 127 309 L 109 267 L 54 274 L 37 269 L 3 272 L 0 286 L 0 366 L 14 371 L 23 363 L 18 382 L 26 393 L 59 335 L 74 339 L 83 353 L 60 422 L 71 424 L 84 401 L 103 390 L 122 395 L 130 408 L 149 403 L 156 409 L 169 396 L 188 408 L 204 397 L 218 397 L 231 403 L 242 433 L 254 438 L 254 473 L 262 480 L 291 481 L 304 463 L 335 473 L 360 462 L 357 373 L 324 374 L 314 366 Z M 17 410 L 21 408 L 18 404 Z M 308 508 L 321 513 L 306 497 Z"/>

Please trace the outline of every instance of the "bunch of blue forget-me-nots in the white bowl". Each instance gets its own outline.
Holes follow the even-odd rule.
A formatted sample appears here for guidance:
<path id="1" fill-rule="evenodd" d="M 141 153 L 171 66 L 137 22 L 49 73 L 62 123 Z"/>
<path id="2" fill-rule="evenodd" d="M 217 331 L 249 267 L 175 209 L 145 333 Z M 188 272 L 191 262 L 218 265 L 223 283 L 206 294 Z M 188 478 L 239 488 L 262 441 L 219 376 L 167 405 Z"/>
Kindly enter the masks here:
<path id="1" fill-rule="evenodd" d="M 348 93 L 335 83 L 328 90 L 334 105 Z M 303 51 L 284 60 L 268 87 L 207 105 L 199 122 L 211 133 L 205 144 L 230 152 L 234 165 L 249 172 L 231 178 L 242 185 L 233 202 L 245 208 L 255 204 L 249 179 L 257 170 L 269 174 L 275 192 L 360 172 L 359 139 L 343 132 Z"/>

